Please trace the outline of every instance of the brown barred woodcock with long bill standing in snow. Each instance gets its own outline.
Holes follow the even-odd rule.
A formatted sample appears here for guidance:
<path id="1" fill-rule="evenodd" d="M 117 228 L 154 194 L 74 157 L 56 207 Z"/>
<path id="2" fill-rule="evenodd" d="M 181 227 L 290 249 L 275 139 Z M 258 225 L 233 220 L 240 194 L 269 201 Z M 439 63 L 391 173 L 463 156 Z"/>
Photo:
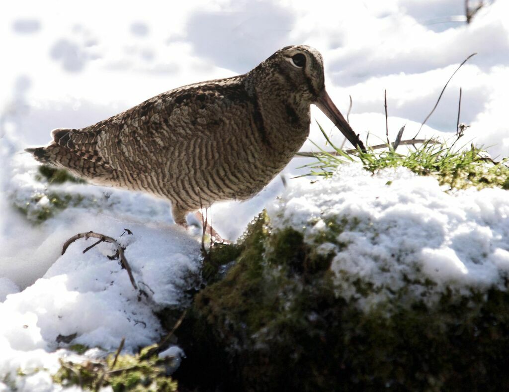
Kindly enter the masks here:
<path id="1" fill-rule="evenodd" d="M 35 159 L 98 185 L 169 200 L 186 215 L 260 192 L 295 156 L 317 105 L 364 150 L 325 90 L 318 50 L 286 46 L 249 72 L 179 87 L 80 129 L 51 131 Z"/>

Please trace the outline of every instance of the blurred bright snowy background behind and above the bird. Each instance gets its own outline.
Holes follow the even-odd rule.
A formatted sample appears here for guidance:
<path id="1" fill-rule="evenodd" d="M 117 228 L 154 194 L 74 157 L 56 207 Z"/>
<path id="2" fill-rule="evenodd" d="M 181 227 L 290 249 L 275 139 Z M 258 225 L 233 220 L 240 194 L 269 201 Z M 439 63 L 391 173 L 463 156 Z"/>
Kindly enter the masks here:
<path id="1" fill-rule="evenodd" d="M 370 131 L 375 144 L 385 133 L 385 89 L 391 138 L 404 124 L 411 137 L 458 64 L 478 52 L 449 83 L 422 134 L 456 130 L 462 87 L 460 121 L 471 125 L 464 140 L 494 157 L 509 154 L 509 4 L 502 0 L 485 1 L 470 24 L 463 0 L 11 2 L 2 5 L 0 29 L 7 176 L 7 156 L 46 144 L 53 128 L 91 125 L 163 91 L 244 73 L 290 44 L 322 52 L 329 94 L 344 114 L 352 96 L 351 124 L 363 139 Z M 314 122 L 310 139 L 323 139 Z M 301 163 L 287 172 L 303 173 Z M 235 208 L 252 215 L 262 206 Z M 216 208 L 215 220 L 230 209 Z M 235 238 L 241 220 L 219 229 Z"/>

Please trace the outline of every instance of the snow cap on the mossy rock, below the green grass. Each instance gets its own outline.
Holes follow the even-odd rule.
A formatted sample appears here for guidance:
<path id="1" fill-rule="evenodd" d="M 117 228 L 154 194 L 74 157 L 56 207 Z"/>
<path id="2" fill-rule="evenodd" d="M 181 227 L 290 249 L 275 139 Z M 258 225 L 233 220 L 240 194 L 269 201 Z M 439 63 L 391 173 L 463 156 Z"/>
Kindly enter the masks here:
<path id="1" fill-rule="evenodd" d="M 505 287 L 509 198 L 502 189 L 447 193 L 403 167 L 371 175 L 352 163 L 330 179 L 292 183 L 268 213 L 274 228 L 292 227 L 334 253 L 338 295 L 364 310 Z M 335 240 L 320 243 L 327 231 Z"/>

